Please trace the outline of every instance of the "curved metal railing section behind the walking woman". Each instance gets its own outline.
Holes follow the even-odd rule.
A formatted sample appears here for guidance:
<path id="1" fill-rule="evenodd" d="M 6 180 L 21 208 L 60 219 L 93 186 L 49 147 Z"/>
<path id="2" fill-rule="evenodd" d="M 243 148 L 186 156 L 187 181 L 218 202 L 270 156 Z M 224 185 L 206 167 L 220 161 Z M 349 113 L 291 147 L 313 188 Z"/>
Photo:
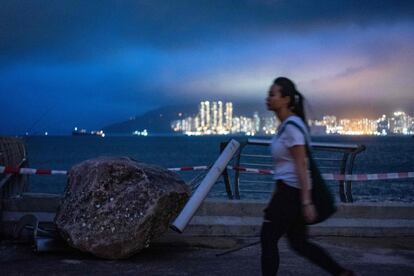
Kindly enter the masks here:
<path id="1" fill-rule="evenodd" d="M 235 167 L 251 167 L 256 169 L 272 169 L 272 157 L 270 155 L 270 140 L 267 139 L 239 139 L 239 151 L 233 160 Z M 227 142 L 220 145 L 223 150 Z M 339 174 L 352 174 L 354 169 L 355 157 L 358 153 L 365 150 L 364 145 L 339 144 L 339 143 L 311 143 L 313 157 L 318 163 L 321 172 L 332 172 Z M 250 173 L 251 174 L 251 173 Z M 243 177 L 242 177 L 243 175 Z M 259 176 L 247 178 L 248 172 L 235 170 L 230 177 L 230 172 L 226 169 L 223 172 L 223 180 L 226 193 L 229 199 L 240 199 L 242 193 L 270 193 L 274 181 L 272 176 Z M 233 180 L 233 185 L 231 182 Z M 338 180 L 339 199 L 342 202 L 353 202 L 352 181 Z M 250 187 L 242 190 L 241 186 Z M 265 187 L 259 189 L 258 187 Z"/>

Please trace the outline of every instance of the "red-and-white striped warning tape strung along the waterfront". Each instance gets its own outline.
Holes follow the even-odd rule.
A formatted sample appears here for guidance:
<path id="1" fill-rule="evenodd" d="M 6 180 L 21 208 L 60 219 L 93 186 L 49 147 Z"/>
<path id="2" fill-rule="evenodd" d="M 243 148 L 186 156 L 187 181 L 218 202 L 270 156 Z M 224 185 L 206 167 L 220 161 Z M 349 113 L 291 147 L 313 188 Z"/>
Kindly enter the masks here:
<path id="1" fill-rule="evenodd" d="M 168 168 L 170 171 L 198 171 L 207 170 L 208 166 L 194 166 L 194 167 L 178 167 Z M 229 170 L 235 170 L 246 173 L 256 174 L 273 174 L 273 170 L 233 167 L 227 166 Z M 16 168 L 0 166 L 0 174 L 39 174 L 39 175 L 66 175 L 67 171 L 63 170 L 48 170 L 48 169 L 31 169 L 31 168 Z M 325 180 L 349 180 L 349 181 L 369 181 L 369 180 L 387 180 L 387 179 L 406 179 L 414 178 L 414 172 L 398 172 L 398 173 L 374 173 L 374 174 L 333 174 L 324 173 L 322 177 Z"/>

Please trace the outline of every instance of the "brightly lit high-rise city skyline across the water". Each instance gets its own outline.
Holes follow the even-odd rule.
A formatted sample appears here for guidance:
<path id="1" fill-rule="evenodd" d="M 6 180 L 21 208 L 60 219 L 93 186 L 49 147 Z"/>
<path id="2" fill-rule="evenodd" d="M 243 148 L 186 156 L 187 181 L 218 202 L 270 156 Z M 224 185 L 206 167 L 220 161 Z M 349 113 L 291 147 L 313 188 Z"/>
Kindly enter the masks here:
<path id="1" fill-rule="evenodd" d="M 243 133 L 248 136 L 256 134 L 275 134 L 280 122 L 276 116 L 260 116 L 255 111 L 252 117 L 234 116 L 232 102 L 201 101 L 198 114 L 171 122 L 174 132 L 186 135 L 228 135 Z M 179 113 L 181 117 L 181 113 Z M 316 135 L 412 135 L 414 134 L 414 117 L 404 111 L 395 111 L 392 115 L 382 114 L 376 119 L 339 118 L 324 115 L 321 120 L 308 119 L 311 132 Z"/>

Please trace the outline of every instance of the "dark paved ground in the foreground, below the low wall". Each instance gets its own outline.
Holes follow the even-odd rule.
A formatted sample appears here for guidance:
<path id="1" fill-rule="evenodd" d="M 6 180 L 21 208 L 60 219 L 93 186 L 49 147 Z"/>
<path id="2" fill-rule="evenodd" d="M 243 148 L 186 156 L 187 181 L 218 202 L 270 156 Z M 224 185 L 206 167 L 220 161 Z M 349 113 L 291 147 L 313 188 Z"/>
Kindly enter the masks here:
<path id="1" fill-rule="evenodd" d="M 313 240 L 358 275 L 414 275 L 414 238 Z M 280 249 L 279 275 L 327 275 L 295 255 L 283 240 Z M 220 252 L 157 244 L 127 260 L 108 261 L 78 252 L 35 254 L 28 245 L 3 241 L 0 275 L 260 275 L 258 245 L 216 257 Z"/>

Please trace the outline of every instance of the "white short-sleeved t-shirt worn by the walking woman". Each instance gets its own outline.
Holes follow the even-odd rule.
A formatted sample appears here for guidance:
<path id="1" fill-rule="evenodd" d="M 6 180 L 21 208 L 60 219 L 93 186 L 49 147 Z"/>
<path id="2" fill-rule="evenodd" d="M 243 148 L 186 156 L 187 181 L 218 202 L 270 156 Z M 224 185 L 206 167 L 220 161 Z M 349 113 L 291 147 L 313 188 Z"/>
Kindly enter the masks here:
<path id="1" fill-rule="evenodd" d="M 273 179 L 280 179 L 287 185 L 300 189 L 300 183 L 298 174 L 296 172 L 295 161 L 293 159 L 293 156 L 289 152 L 289 148 L 296 145 L 306 145 L 306 138 L 303 136 L 302 132 L 296 126 L 288 124 L 285 127 L 288 121 L 294 121 L 299 126 L 301 126 L 302 129 L 307 133 L 307 136 L 309 137 L 308 129 L 299 116 L 290 116 L 282 124 L 280 124 L 280 126 L 278 127 L 278 131 L 282 130 L 283 128 L 284 130 L 280 135 L 276 134 L 273 137 L 271 143 L 271 153 L 273 157 L 274 167 Z M 309 170 L 308 175 L 310 176 Z"/>

